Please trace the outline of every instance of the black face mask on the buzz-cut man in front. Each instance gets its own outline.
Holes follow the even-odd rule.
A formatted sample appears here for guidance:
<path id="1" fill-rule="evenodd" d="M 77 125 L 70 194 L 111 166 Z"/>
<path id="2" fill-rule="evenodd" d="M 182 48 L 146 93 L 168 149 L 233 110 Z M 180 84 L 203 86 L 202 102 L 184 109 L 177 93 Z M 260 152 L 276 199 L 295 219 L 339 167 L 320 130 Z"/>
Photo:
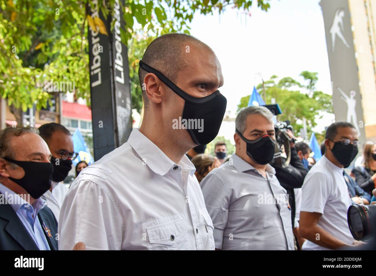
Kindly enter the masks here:
<path id="1" fill-rule="evenodd" d="M 193 119 L 199 121 L 202 119 L 205 128 L 202 130 L 187 129 L 193 142 L 197 145 L 206 145 L 217 136 L 227 105 L 226 98 L 219 90 L 203 98 L 192 97 L 177 87 L 176 84 L 170 81 L 161 72 L 143 63 L 142 60 L 139 61 L 139 66 L 145 71 L 155 74 L 164 84 L 185 100 L 182 120 L 185 119 L 188 121 Z"/>

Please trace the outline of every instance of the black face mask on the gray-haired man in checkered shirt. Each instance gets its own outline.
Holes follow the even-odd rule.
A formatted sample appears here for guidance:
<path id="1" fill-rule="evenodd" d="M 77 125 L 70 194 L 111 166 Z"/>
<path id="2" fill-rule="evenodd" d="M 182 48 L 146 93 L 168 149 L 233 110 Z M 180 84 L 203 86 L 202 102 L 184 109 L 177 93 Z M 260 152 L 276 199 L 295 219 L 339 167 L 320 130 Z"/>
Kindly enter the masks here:
<path id="1" fill-rule="evenodd" d="M 265 134 L 256 140 L 248 140 L 238 130 L 235 131 L 247 143 L 247 155 L 256 163 L 265 165 L 273 160 L 275 142 L 269 135 Z"/>

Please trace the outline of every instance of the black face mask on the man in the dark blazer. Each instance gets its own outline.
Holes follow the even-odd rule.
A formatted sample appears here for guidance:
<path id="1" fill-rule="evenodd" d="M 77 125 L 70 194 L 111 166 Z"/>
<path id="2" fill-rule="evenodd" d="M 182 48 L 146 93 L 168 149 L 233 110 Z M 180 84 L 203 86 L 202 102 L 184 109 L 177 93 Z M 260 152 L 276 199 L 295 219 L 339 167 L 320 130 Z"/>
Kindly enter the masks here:
<path id="1" fill-rule="evenodd" d="M 9 177 L 13 182 L 23 187 L 33 198 L 40 198 L 51 187 L 53 166 L 47 162 L 17 161 L 4 157 L 6 161 L 14 163 L 25 171 L 23 178 Z"/>

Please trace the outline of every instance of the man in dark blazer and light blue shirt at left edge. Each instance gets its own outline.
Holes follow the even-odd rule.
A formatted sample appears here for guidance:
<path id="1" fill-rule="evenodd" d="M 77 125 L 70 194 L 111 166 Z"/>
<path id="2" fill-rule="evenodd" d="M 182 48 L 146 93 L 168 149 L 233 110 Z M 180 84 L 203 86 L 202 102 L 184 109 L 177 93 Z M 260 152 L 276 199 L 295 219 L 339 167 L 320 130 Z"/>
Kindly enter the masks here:
<path id="1" fill-rule="evenodd" d="M 0 132 L 0 250 L 57 250 L 57 221 L 41 195 L 50 189 L 50 151 L 28 128 Z"/>

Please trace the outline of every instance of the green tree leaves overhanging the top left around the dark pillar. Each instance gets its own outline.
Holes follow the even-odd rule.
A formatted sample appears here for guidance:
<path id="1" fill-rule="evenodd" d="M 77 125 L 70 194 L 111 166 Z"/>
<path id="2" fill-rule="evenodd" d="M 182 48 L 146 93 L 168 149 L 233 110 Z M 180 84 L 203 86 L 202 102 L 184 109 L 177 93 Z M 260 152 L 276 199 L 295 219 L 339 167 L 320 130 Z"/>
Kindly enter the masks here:
<path id="1" fill-rule="evenodd" d="M 255 0 L 253 1 L 255 2 Z M 97 1 L 105 17 L 114 11 L 115 0 Z M 45 107 L 53 94 L 43 90 L 45 81 L 74 81 L 76 98 L 90 100 L 88 24 L 103 24 L 88 18 L 92 0 L 0 0 L 0 96 L 16 109 Z M 258 0 L 264 11 L 268 0 Z M 125 0 L 121 39 L 129 47 L 133 107 L 141 110 L 138 64 L 147 44 L 158 35 L 189 33 L 188 24 L 196 11 L 223 12 L 226 8 L 249 10 L 247 0 Z M 96 21 L 97 20 L 97 21 Z M 112 24 L 111 28 L 114 25 Z M 136 65 L 135 65 L 136 64 Z"/>

